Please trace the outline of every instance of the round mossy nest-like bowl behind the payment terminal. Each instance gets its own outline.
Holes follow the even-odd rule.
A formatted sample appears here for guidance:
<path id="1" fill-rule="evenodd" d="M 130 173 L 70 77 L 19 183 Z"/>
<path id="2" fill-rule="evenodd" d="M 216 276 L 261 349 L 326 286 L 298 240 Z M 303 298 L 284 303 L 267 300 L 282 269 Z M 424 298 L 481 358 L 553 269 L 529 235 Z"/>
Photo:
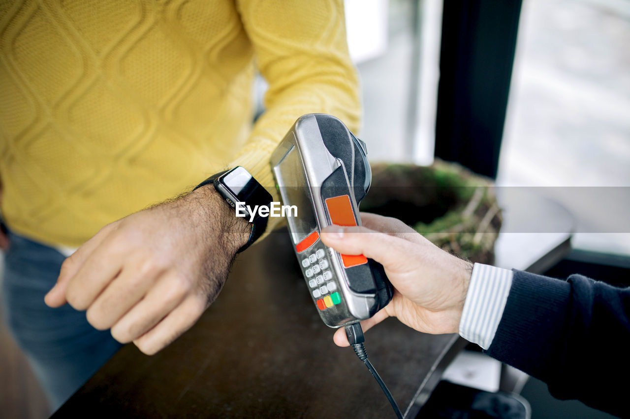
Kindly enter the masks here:
<path id="1" fill-rule="evenodd" d="M 438 247 L 474 262 L 493 262 L 500 213 L 485 233 L 477 235 L 484 216 L 496 204 L 490 179 L 439 160 L 430 167 L 373 165 L 372 175 L 372 189 L 362 210 L 399 218 Z M 476 193 L 481 196 L 475 197 Z M 473 198 L 476 205 L 464 217 Z"/>

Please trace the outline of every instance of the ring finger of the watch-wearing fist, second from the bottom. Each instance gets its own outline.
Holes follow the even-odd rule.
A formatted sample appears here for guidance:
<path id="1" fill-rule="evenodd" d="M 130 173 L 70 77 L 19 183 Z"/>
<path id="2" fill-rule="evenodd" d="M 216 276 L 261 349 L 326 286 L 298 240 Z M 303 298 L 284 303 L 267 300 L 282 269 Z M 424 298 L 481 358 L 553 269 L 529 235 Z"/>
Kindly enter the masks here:
<path id="1" fill-rule="evenodd" d="M 112 336 L 127 344 L 151 330 L 186 297 L 188 289 L 173 276 L 162 276 L 146 296 L 112 327 Z"/>

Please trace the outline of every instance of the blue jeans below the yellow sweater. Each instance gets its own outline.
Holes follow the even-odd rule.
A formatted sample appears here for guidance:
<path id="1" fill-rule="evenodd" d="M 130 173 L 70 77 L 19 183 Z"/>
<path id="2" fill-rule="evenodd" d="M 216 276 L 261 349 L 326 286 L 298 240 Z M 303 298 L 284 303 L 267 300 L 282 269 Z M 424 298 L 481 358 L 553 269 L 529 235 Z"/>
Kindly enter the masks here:
<path id="1" fill-rule="evenodd" d="M 108 330 L 89 325 L 84 311 L 68 304 L 50 308 L 43 302 L 57 282 L 64 259 L 52 247 L 9 232 L 2 305 L 9 329 L 28 357 L 52 410 L 122 346 Z"/>

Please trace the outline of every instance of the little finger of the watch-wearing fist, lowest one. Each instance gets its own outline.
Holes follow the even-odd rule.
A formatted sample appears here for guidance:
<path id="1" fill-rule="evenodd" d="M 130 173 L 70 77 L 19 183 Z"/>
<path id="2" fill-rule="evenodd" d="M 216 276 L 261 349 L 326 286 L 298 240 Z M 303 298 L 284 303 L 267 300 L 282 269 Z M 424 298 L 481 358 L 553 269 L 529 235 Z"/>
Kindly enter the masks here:
<path id="1" fill-rule="evenodd" d="M 203 314 L 206 306 L 207 298 L 205 296 L 190 294 L 154 328 L 139 338 L 135 338 L 134 344 L 144 354 L 156 354 L 190 329 Z"/>

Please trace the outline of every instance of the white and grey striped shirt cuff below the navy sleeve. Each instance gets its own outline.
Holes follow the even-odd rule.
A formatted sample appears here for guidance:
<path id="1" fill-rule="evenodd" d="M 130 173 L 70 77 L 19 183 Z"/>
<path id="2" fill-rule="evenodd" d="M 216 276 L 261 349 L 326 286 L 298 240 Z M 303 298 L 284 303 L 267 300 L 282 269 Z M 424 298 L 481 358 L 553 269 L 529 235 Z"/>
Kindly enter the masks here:
<path id="1" fill-rule="evenodd" d="M 490 347 L 510 294 L 512 276 L 509 269 L 474 264 L 459 321 L 459 335 L 462 338 L 483 349 Z"/>

